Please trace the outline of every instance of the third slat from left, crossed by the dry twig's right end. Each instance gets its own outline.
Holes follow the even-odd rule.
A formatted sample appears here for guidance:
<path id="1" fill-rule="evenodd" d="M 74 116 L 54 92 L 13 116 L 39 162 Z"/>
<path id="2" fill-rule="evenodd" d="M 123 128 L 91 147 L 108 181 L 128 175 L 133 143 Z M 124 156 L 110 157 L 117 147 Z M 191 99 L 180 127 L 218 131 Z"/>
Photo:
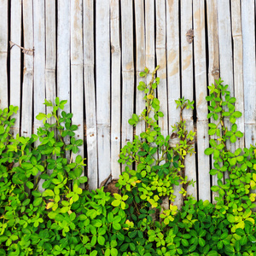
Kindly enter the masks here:
<path id="1" fill-rule="evenodd" d="M 33 9 L 32 0 L 23 1 L 23 32 L 25 49 L 33 49 Z M 32 92 L 33 92 L 34 57 L 24 55 L 23 83 L 22 83 L 22 113 L 20 135 L 32 135 Z"/>

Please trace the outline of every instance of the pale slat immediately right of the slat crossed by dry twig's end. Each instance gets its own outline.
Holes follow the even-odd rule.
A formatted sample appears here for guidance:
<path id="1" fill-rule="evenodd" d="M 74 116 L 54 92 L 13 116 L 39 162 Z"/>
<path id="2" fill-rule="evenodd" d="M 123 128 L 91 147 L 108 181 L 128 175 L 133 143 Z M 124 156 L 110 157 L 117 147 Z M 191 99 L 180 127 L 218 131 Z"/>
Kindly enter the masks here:
<path id="1" fill-rule="evenodd" d="M 45 113 L 45 20 L 44 0 L 33 1 L 33 23 L 34 23 L 34 132 L 42 121 L 36 119 L 38 113 Z M 38 145 L 38 142 L 36 143 Z M 43 180 L 38 183 L 38 190 L 43 191 Z"/>

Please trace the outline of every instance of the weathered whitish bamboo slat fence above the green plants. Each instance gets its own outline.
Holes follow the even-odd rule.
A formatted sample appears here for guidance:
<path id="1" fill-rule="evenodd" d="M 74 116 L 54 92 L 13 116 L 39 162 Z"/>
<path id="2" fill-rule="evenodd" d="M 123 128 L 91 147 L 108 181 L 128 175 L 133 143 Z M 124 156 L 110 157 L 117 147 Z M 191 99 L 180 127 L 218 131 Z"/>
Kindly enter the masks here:
<path id="1" fill-rule="evenodd" d="M 47 111 L 44 99 L 67 99 L 84 138 L 90 189 L 109 174 L 119 177 L 120 148 L 143 131 L 127 120 L 144 107 L 137 90 L 144 67 L 160 65 L 164 135 L 179 119 L 175 100 L 195 100 L 195 111 L 183 114 L 197 131 L 197 154 L 186 160 L 186 175 L 196 181 L 189 194 L 213 198 L 205 97 L 219 75 L 243 113 L 245 138 L 236 147 L 254 144 L 254 0 L 0 0 L 0 9 L 0 108 L 19 106 L 13 133 L 30 136 L 41 125 L 35 116 Z"/>

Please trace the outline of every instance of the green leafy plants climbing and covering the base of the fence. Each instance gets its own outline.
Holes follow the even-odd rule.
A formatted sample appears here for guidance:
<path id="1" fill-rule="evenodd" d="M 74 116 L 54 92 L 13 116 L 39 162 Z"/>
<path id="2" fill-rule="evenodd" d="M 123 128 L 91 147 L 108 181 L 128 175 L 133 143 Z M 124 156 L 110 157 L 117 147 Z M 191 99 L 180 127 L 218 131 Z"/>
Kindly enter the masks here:
<path id="1" fill-rule="evenodd" d="M 236 98 L 221 80 L 208 86 L 208 118 L 216 120 L 209 124 L 209 136 L 217 139 L 210 140 L 205 154 L 213 154 L 210 173 L 217 175 L 218 184 L 212 191 L 218 196 L 216 205 L 196 201 L 187 194 L 194 182 L 184 166 L 185 156 L 195 153 L 195 133 L 187 131 L 182 119 L 183 109 L 193 108 L 194 102 L 177 100 L 181 119 L 172 128 L 179 143 L 171 147 L 170 136 L 163 137 L 158 125 L 163 116 L 155 96 L 158 68 L 148 84 L 137 86 L 146 107 L 128 121 L 143 121 L 146 129 L 121 149 L 119 163 L 126 167 L 117 183 L 119 194 L 82 189 L 87 182 L 85 160 L 73 154 L 83 141 L 74 137 L 78 127 L 72 124 L 73 114 L 63 111 L 67 101 L 44 102 L 52 112 L 38 114 L 43 124 L 32 137 L 12 137 L 9 132 L 18 108 L 0 110 L 0 255 L 256 254 L 251 190 L 256 189 L 256 148 L 228 148 L 243 136 L 237 131 L 241 113 L 234 107 Z M 148 75 L 145 68 L 141 76 Z M 180 211 L 173 195 L 179 184 L 184 199 Z M 166 198 L 170 207 L 162 209 Z"/>

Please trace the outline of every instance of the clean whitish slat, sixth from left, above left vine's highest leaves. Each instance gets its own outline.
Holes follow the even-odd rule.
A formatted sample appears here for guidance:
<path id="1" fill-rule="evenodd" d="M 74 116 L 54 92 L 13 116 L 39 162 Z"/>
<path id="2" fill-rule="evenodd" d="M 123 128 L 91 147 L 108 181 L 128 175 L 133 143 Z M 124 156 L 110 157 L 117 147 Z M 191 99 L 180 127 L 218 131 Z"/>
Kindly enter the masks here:
<path id="1" fill-rule="evenodd" d="M 67 100 L 63 110 L 70 113 L 70 1 L 57 1 L 57 96 L 61 101 Z M 64 142 L 69 144 L 70 137 L 64 137 Z M 70 160 L 69 152 L 66 158 Z"/>

